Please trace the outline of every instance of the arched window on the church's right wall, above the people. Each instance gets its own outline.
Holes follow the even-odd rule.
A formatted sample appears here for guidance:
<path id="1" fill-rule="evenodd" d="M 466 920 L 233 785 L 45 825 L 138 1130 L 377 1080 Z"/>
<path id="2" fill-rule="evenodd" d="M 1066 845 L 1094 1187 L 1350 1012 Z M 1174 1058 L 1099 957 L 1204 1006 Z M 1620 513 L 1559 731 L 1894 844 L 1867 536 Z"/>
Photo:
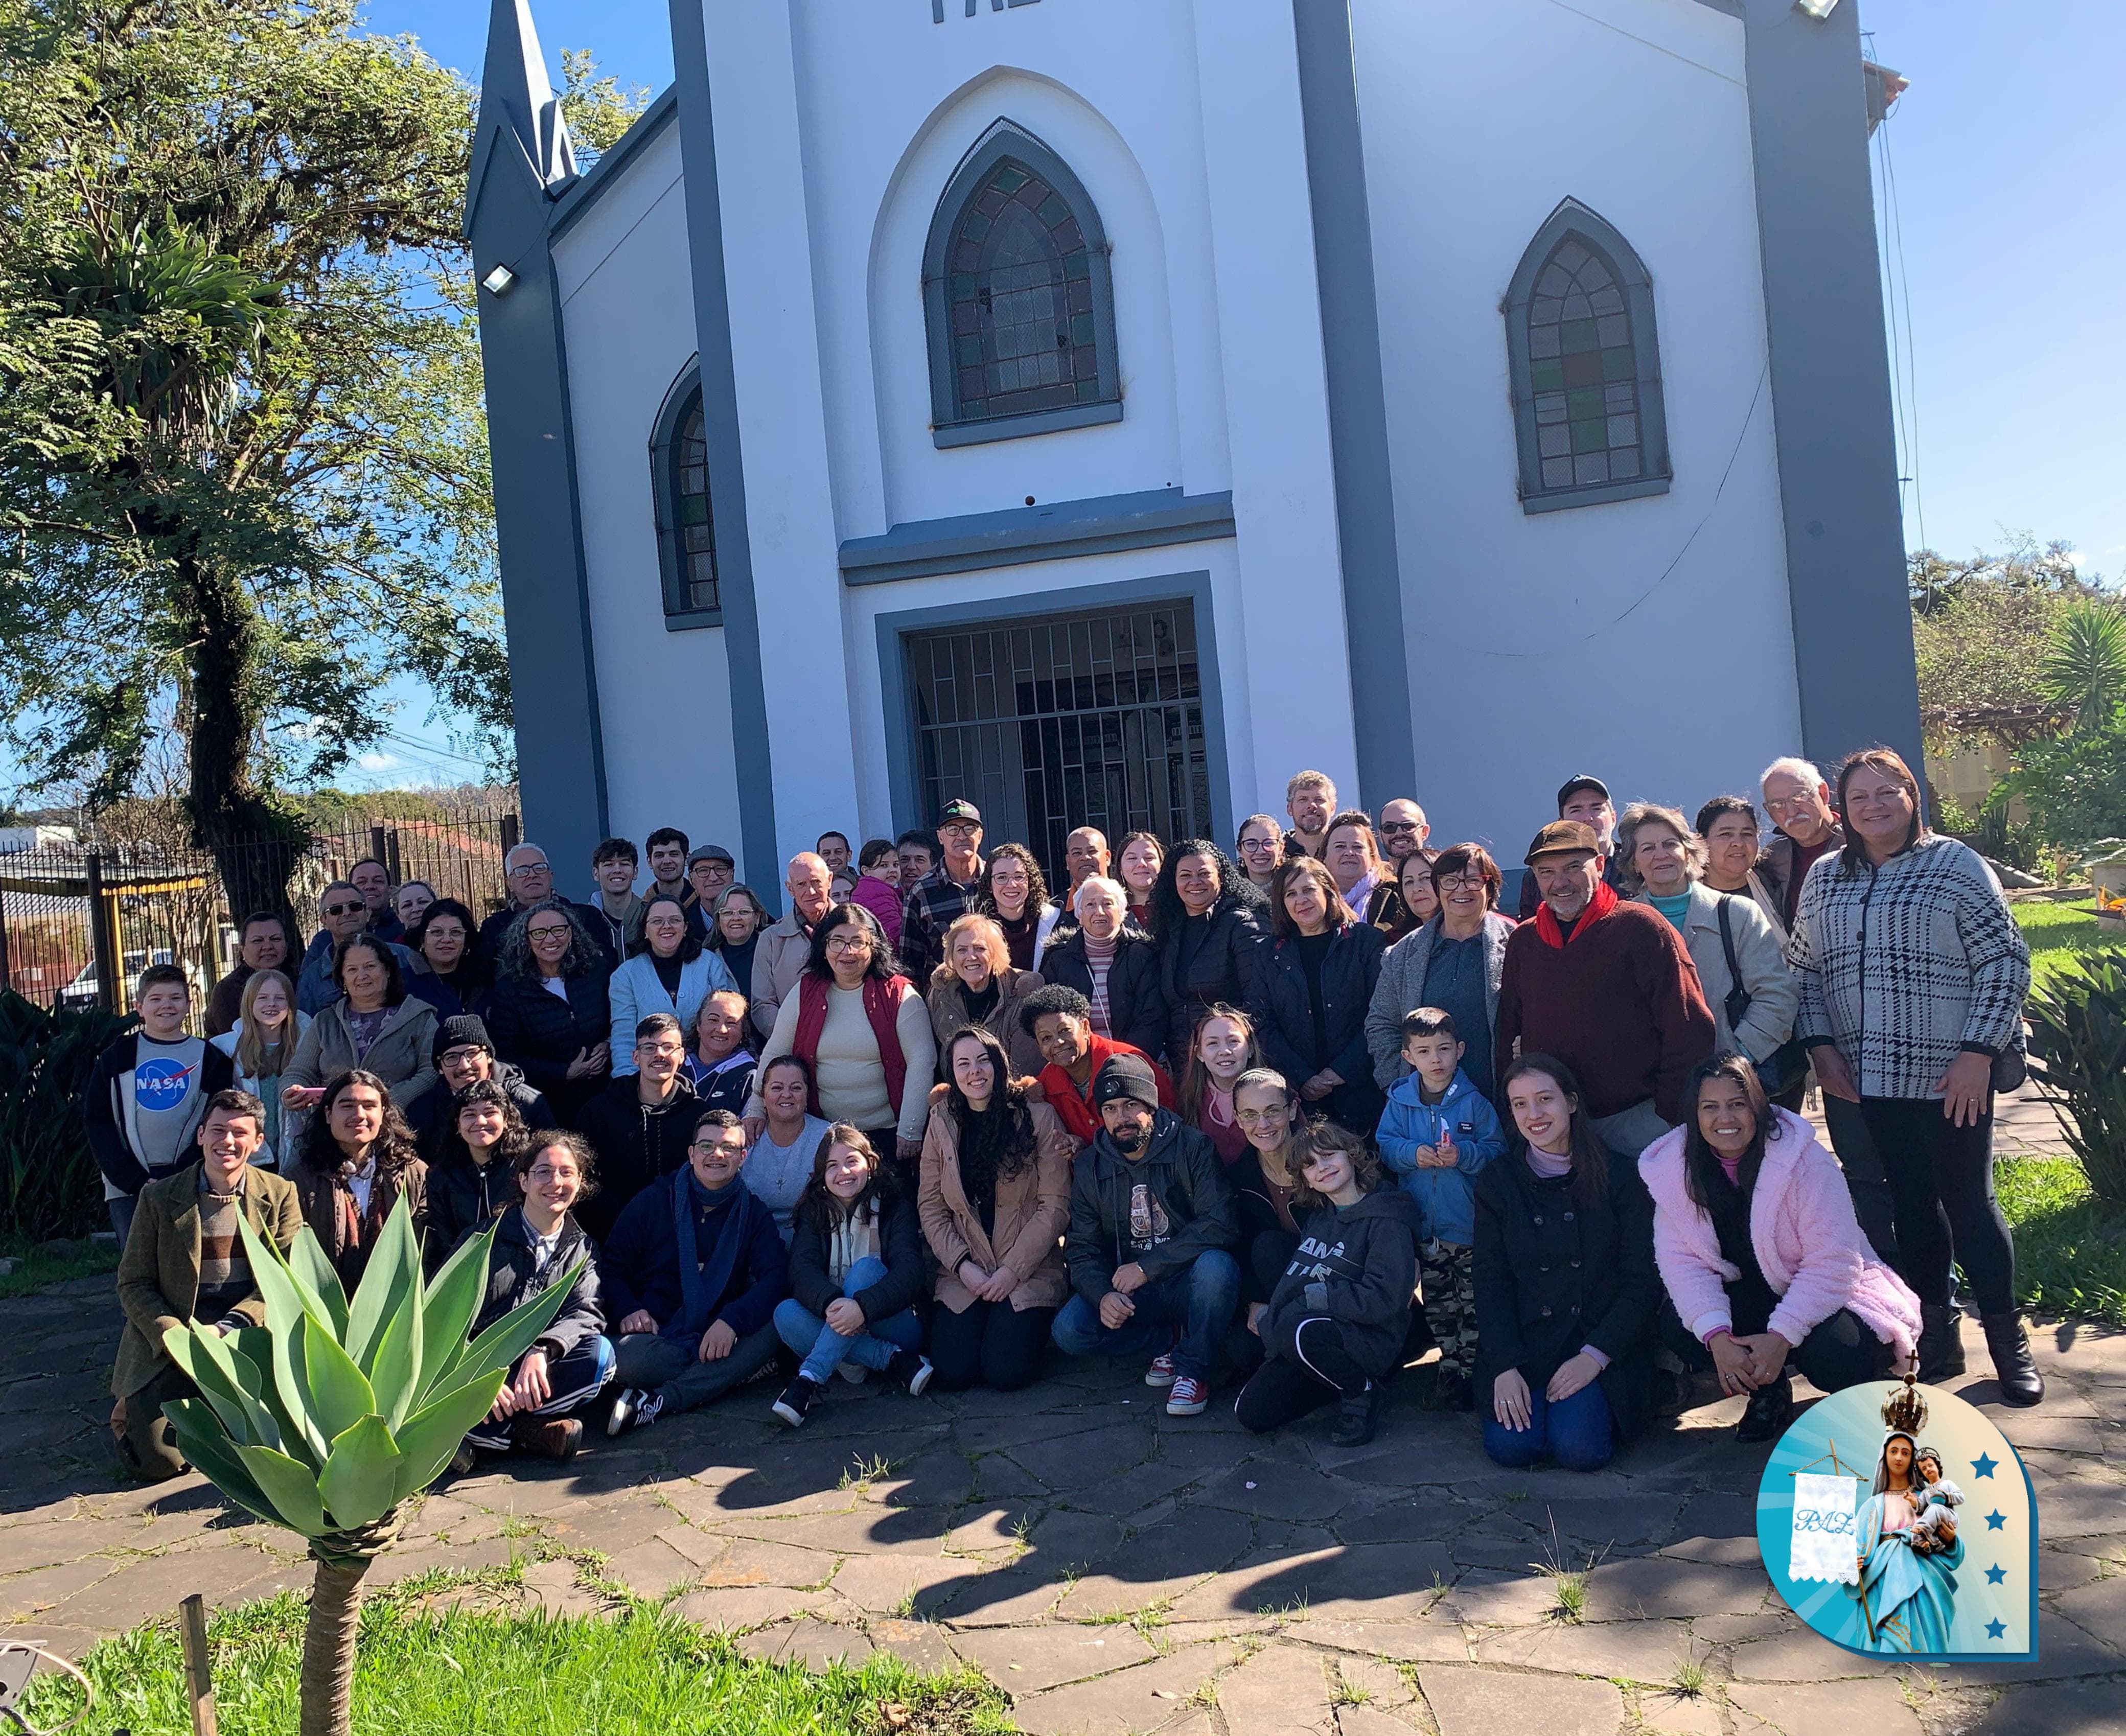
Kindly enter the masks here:
<path id="1" fill-rule="evenodd" d="M 1550 212 L 1514 272 L 1505 346 L 1524 512 L 1667 493 L 1654 285 L 1577 200 Z"/>

